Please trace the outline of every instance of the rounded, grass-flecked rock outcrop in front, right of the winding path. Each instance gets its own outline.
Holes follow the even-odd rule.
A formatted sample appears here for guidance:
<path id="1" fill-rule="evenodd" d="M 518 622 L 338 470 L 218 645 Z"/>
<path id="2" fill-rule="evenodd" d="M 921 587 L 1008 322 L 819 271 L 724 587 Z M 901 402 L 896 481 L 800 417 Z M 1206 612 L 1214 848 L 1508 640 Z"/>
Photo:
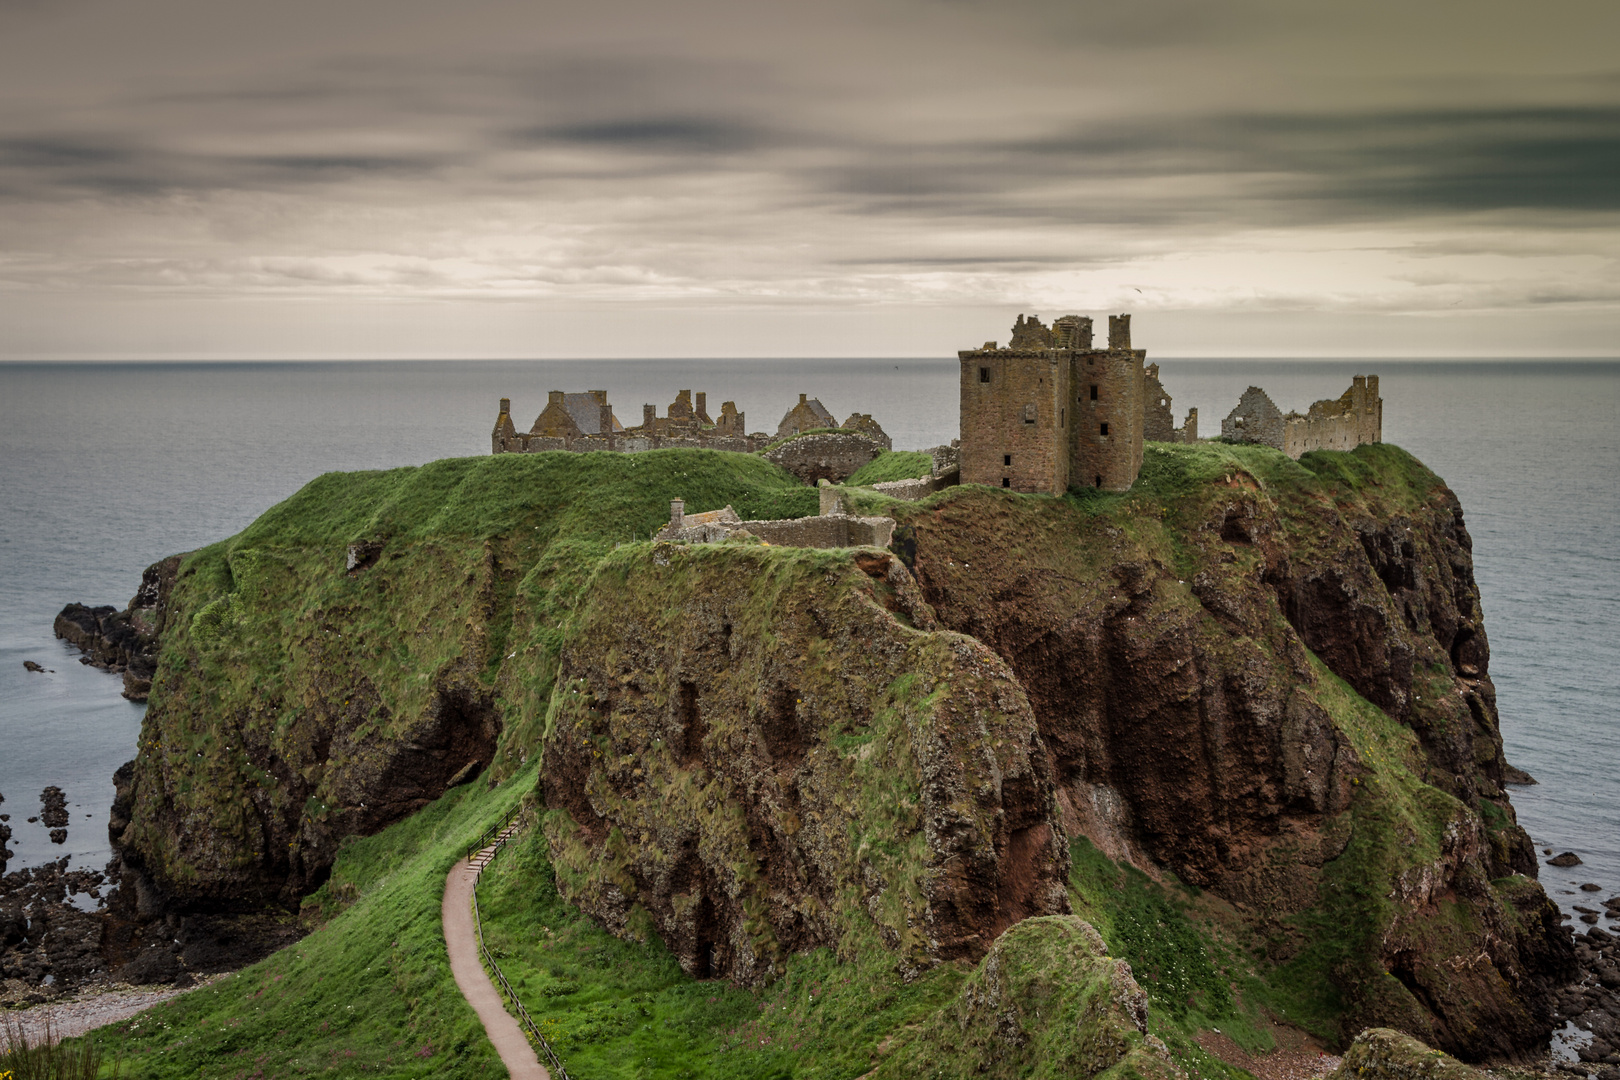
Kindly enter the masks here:
<path id="1" fill-rule="evenodd" d="M 614 555 L 557 685 L 543 784 L 567 894 L 619 933 L 640 907 L 692 975 L 758 981 L 873 929 L 917 970 L 1068 910 L 1024 691 L 888 554 Z"/>

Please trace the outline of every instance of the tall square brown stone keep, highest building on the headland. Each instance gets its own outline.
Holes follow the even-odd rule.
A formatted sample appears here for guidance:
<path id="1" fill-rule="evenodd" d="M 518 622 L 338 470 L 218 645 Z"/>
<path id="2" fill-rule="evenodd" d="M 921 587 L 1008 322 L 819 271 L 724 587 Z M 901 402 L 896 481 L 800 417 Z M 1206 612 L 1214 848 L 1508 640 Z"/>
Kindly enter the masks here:
<path id="1" fill-rule="evenodd" d="M 1017 317 L 1006 348 L 957 353 L 962 364 L 962 483 L 1021 492 L 1126 491 L 1142 468 L 1142 361 L 1131 316 L 1108 317 L 1108 348 L 1092 321 L 1045 327 Z"/>

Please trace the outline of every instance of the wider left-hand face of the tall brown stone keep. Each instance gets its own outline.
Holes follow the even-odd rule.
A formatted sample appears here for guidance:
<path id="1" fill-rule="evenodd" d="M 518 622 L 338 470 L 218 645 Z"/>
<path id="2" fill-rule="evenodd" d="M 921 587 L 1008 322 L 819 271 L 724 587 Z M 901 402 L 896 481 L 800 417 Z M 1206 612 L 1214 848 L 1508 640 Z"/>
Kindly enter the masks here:
<path id="1" fill-rule="evenodd" d="M 957 353 L 964 484 L 1048 495 L 1068 491 L 1071 395 L 1066 356 L 1056 350 Z"/>

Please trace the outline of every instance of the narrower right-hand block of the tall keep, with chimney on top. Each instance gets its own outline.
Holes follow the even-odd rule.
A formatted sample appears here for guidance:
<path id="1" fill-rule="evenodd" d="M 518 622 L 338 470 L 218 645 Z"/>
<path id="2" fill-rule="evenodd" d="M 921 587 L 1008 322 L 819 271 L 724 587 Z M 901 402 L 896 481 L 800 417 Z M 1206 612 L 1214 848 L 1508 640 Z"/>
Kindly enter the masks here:
<path id="1" fill-rule="evenodd" d="M 1110 316 L 1110 338 L 1121 340 Z M 1128 330 L 1123 338 L 1129 343 Z M 1072 353 L 1071 484 L 1129 491 L 1142 471 L 1144 379 L 1139 348 Z"/>

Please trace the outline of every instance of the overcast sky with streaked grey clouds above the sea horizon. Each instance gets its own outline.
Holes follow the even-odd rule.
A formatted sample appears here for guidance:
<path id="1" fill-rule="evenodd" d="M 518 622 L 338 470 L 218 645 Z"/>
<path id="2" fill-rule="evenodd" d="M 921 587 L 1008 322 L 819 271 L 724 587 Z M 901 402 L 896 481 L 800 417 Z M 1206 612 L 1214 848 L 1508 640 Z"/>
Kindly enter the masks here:
<path id="1" fill-rule="evenodd" d="M 0 358 L 1620 355 L 1614 0 L 0 0 Z"/>

